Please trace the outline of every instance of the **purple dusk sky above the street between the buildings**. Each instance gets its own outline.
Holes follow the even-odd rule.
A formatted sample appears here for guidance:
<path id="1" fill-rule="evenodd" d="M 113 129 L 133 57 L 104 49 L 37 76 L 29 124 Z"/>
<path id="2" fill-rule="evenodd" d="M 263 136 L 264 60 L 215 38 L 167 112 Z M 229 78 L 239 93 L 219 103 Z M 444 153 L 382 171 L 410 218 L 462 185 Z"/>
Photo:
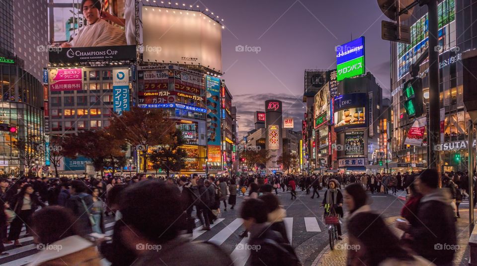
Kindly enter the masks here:
<path id="1" fill-rule="evenodd" d="M 188 4 L 188 3 L 186 3 Z M 334 47 L 366 38 L 366 71 L 390 95 L 390 42 L 381 39 L 388 20 L 376 0 L 198 0 L 224 18 L 222 62 L 239 112 L 239 137 L 253 128 L 264 101 L 283 101 L 284 116 L 301 130 L 305 69 L 336 67 Z M 236 52 L 236 46 L 260 52 Z"/>

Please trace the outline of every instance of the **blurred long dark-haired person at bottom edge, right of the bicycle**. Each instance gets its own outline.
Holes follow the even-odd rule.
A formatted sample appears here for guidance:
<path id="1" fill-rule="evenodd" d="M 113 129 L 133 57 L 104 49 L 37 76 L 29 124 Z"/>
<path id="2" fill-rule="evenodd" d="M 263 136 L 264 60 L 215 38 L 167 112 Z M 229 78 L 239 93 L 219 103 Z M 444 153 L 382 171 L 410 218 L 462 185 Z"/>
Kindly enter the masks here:
<path id="1" fill-rule="evenodd" d="M 350 266 L 434 266 L 401 247 L 378 214 L 356 213 L 348 222 L 348 233 L 350 242 L 356 243 L 348 247 L 355 253 Z"/>

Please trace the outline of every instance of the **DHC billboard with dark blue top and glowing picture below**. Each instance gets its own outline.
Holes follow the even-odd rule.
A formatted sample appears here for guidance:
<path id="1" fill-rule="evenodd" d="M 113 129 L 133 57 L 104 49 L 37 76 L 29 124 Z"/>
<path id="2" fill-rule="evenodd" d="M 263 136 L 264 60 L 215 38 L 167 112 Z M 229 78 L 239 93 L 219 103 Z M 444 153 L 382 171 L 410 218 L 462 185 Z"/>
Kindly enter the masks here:
<path id="1" fill-rule="evenodd" d="M 366 93 L 352 93 L 335 97 L 333 104 L 335 131 L 365 127 L 367 100 L 368 94 Z"/>

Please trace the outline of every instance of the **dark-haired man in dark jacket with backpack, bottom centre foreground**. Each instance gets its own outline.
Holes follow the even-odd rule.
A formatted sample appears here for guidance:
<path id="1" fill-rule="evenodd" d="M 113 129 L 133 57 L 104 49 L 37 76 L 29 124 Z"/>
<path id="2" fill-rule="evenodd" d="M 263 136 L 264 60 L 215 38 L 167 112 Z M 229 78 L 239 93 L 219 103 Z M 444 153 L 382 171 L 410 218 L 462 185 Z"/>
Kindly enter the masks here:
<path id="1" fill-rule="evenodd" d="M 240 217 L 245 230 L 250 232 L 248 245 L 251 266 L 294 266 L 299 263 L 292 246 L 282 235 L 270 228 L 267 206 L 259 199 L 248 199 L 243 202 Z"/>

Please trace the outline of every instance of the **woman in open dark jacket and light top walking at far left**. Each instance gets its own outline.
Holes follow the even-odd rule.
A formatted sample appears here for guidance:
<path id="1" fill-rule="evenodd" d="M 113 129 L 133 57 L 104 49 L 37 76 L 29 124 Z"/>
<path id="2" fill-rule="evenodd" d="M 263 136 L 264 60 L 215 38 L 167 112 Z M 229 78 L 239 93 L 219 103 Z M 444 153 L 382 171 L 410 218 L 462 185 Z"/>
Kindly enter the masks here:
<path id="1" fill-rule="evenodd" d="M 14 241 L 15 247 L 22 246 L 18 238 L 20 238 L 21 227 L 25 223 L 27 233 L 31 228 L 31 215 L 35 212 L 38 206 L 45 207 L 46 205 L 38 199 L 38 195 L 33 194 L 33 186 L 25 184 L 20 192 L 16 194 L 11 202 L 10 208 L 13 207 L 13 212 L 16 213 L 15 218 L 11 222 L 10 232 L 8 233 L 8 240 Z"/>

